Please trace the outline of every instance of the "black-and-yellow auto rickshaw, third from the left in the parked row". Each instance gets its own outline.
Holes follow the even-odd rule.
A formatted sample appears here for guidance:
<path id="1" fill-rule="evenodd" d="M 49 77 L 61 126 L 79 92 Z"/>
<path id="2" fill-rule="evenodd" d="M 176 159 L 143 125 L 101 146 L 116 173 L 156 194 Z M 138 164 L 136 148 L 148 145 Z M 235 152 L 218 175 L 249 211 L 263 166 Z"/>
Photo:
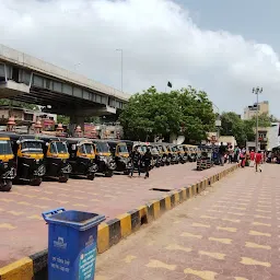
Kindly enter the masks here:
<path id="1" fill-rule="evenodd" d="M 72 171 L 69 164 L 69 152 L 66 140 L 58 137 L 43 136 L 38 138 L 44 141 L 43 151 L 45 155 L 45 177 L 56 177 L 58 182 L 66 183 Z"/>

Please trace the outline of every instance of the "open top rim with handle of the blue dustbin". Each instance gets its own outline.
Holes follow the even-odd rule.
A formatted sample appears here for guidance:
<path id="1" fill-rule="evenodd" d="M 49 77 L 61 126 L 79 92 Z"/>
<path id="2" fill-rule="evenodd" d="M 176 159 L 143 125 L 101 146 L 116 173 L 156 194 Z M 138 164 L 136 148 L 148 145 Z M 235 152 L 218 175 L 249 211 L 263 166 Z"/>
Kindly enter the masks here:
<path id="1" fill-rule="evenodd" d="M 66 211 L 63 208 L 44 212 L 42 215 L 47 223 L 70 226 L 78 231 L 86 231 L 105 221 L 105 215 L 102 214 L 77 210 Z"/>

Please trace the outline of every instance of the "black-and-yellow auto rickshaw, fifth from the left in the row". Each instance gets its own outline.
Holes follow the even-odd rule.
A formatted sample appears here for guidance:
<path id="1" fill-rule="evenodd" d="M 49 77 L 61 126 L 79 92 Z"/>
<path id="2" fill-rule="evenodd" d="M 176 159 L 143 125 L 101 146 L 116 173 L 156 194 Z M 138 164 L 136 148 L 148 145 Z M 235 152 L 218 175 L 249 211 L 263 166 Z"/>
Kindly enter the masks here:
<path id="1" fill-rule="evenodd" d="M 92 142 L 95 145 L 97 172 L 103 173 L 105 177 L 112 177 L 117 165 L 112 156 L 108 142 L 97 139 L 92 139 Z"/>

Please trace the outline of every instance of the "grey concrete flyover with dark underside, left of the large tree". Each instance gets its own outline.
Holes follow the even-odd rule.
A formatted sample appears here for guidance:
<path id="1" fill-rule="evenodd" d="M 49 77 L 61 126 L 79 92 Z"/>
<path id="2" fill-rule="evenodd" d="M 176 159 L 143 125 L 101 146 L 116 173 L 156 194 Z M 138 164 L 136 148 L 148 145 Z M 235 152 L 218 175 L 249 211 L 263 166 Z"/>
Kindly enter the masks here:
<path id="1" fill-rule="evenodd" d="M 50 105 L 51 113 L 71 116 L 74 121 L 115 115 L 129 96 L 0 44 L 0 98 Z"/>

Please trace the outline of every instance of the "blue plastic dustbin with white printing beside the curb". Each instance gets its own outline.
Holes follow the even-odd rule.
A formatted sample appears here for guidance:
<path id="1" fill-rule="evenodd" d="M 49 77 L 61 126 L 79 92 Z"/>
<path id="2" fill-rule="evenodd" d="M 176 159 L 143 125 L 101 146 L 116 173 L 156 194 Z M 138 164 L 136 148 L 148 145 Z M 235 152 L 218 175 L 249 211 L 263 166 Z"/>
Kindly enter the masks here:
<path id="1" fill-rule="evenodd" d="M 58 208 L 48 223 L 48 279 L 94 280 L 97 226 L 105 215 Z"/>

